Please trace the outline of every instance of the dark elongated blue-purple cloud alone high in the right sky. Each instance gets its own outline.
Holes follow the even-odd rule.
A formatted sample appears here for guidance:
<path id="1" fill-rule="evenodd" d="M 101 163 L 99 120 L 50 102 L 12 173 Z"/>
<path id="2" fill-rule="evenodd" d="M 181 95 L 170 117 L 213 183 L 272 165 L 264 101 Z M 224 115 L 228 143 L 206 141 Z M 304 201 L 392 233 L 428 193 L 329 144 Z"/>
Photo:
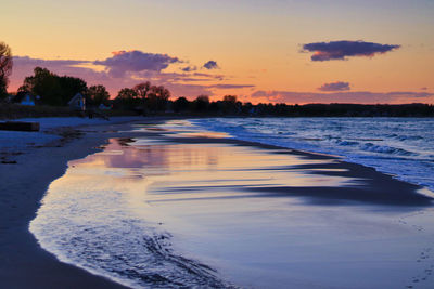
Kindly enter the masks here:
<path id="1" fill-rule="evenodd" d="M 331 42 L 315 42 L 303 45 L 303 49 L 308 52 L 314 52 L 310 57 L 314 62 L 347 60 L 352 56 L 369 56 L 383 54 L 396 49 L 400 45 L 380 44 L 365 41 L 331 41 Z"/>

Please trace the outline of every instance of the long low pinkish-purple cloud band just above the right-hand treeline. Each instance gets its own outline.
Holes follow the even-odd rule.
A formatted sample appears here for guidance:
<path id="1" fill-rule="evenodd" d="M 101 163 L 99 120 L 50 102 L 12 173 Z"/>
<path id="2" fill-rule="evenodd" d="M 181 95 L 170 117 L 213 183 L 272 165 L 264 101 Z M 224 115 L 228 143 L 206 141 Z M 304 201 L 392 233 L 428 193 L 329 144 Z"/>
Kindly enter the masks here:
<path id="1" fill-rule="evenodd" d="M 358 103 L 358 104 L 403 104 L 403 103 L 433 103 L 434 93 L 394 91 L 394 92 L 295 92 L 295 91 L 255 91 L 253 98 L 260 102 L 275 102 L 288 104 L 307 103 Z"/>

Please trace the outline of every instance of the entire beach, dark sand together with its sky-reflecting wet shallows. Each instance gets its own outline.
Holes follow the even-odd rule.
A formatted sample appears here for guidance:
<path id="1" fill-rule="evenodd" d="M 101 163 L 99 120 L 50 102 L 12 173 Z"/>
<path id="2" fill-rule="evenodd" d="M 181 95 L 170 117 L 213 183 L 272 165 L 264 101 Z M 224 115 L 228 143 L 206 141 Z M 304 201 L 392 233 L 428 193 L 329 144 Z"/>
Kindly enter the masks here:
<path id="1" fill-rule="evenodd" d="M 131 127 L 125 123 L 127 121 L 136 124 Z M 61 137 L 43 136 L 47 137 L 44 143 L 31 142 L 31 145 L 27 141 L 16 141 L 20 145 L 15 148 L 3 147 L 7 163 L 0 165 L 0 229 L 4 236 L 0 244 L 0 287 L 123 288 L 119 284 L 124 284 L 137 288 L 182 285 L 429 288 L 434 265 L 430 259 L 433 229 L 425 225 L 425 219 L 431 213 L 432 197 L 420 194 L 422 187 L 334 156 L 189 130 L 182 121 L 180 124 L 164 119 L 119 119 L 116 122 L 120 123 L 88 122 L 69 128 L 58 122 L 49 129 Z M 89 174 L 93 176 L 87 176 Z M 110 180 L 118 181 L 110 183 Z M 125 185 L 126 180 L 137 182 L 137 186 Z M 104 182 L 107 183 L 104 185 Z M 161 279 L 142 276 L 139 283 L 136 275 L 125 275 L 120 271 L 111 275 L 99 270 L 103 267 L 99 265 L 110 264 L 111 260 L 82 262 L 80 255 L 63 254 L 56 247 L 68 245 L 67 235 L 81 234 L 80 226 L 88 226 L 89 219 L 75 231 L 73 225 L 80 220 L 69 215 L 71 205 L 50 208 L 50 196 L 65 198 L 63 205 L 69 200 L 74 206 L 81 206 L 81 197 L 69 197 L 79 196 L 87 187 L 94 196 L 104 192 L 102 199 L 110 189 L 126 192 L 125 196 L 119 195 L 119 200 L 126 203 L 122 215 L 128 213 L 140 222 L 156 224 L 157 228 L 150 232 L 156 232 L 157 245 L 169 253 L 155 259 L 155 264 L 153 259 L 146 259 L 152 266 L 137 268 L 137 274 L 144 276 L 150 272 Z M 74 192 L 77 194 L 72 194 Z M 105 203 L 101 200 L 105 207 L 94 205 L 88 218 L 94 214 L 94 221 L 100 222 L 107 213 L 115 215 L 117 209 L 105 211 L 113 207 L 111 200 Z M 142 203 L 148 209 L 144 210 Z M 80 209 L 74 207 L 86 218 L 89 209 Z M 41 216 L 63 212 L 75 223 L 72 222 L 71 227 L 63 221 L 51 223 L 55 218 L 50 215 L 38 221 L 35 219 L 38 210 Z M 414 220 L 414 215 L 421 219 Z M 48 246 L 56 257 L 42 249 L 28 231 L 33 220 L 34 233 L 39 234 L 42 247 Z M 136 225 L 137 220 L 131 223 Z M 116 227 L 117 219 L 111 222 L 112 227 Z M 414 225 L 411 222 L 416 222 Z M 164 228 L 161 232 L 159 224 Z M 130 223 L 123 223 L 125 227 L 128 225 Z M 141 223 L 139 225 L 138 231 L 143 228 Z M 58 233 L 52 231 L 56 229 L 59 236 L 66 236 L 64 244 L 52 242 L 55 239 L 52 236 Z M 92 234 L 98 236 L 99 233 L 104 232 L 97 229 Z M 159 244 L 162 236 L 164 241 Z M 412 236 L 417 241 L 411 240 Z M 131 247 L 130 251 L 133 249 Z M 403 250 L 404 253 L 397 255 Z M 59 262 L 61 254 L 76 266 Z M 131 262 L 135 258 L 138 258 L 136 251 L 131 253 Z M 167 271 L 158 267 L 162 263 Z M 347 277 L 336 278 L 342 274 Z"/>

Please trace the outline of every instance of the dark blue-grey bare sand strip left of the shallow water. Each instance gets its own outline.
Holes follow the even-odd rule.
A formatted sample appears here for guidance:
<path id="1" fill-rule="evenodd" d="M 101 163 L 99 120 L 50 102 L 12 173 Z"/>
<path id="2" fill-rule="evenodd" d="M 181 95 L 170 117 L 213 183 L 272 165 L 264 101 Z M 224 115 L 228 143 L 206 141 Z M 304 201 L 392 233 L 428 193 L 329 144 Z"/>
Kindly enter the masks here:
<path id="1" fill-rule="evenodd" d="M 137 120 L 142 121 L 139 118 Z M 131 123 L 132 120 L 127 122 Z M 107 278 L 60 262 L 42 249 L 28 231 L 29 222 L 35 219 L 48 186 L 65 173 L 67 162 L 97 153 L 100 150 L 99 146 L 118 134 L 107 131 L 123 126 L 125 124 L 99 123 L 73 127 L 74 130 L 85 131 L 85 134 L 55 140 L 39 147 L 20 148 L 23 152 L 14 156 L 16 163 L 1 163 L 0 287 L 126 288 Z"/>

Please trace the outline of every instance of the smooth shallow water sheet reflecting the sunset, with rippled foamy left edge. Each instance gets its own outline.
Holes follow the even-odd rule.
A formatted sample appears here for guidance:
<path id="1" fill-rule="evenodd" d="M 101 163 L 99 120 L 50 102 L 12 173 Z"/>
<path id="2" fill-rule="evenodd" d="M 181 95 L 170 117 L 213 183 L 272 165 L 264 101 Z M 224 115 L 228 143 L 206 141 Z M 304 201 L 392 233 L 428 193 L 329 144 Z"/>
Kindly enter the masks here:
<path id="1" fill-rule="evenodd" d="M 167 137 L 111 140 L 50 185 L 30 231 L 60 260 L 135 288 L 430 288 L 431 208 L 319 205 L 277 188 L 363 178 L 297 169 L 331 158 L 183 143 L 225 136 L 184 121 L 141 130 Z"/>

